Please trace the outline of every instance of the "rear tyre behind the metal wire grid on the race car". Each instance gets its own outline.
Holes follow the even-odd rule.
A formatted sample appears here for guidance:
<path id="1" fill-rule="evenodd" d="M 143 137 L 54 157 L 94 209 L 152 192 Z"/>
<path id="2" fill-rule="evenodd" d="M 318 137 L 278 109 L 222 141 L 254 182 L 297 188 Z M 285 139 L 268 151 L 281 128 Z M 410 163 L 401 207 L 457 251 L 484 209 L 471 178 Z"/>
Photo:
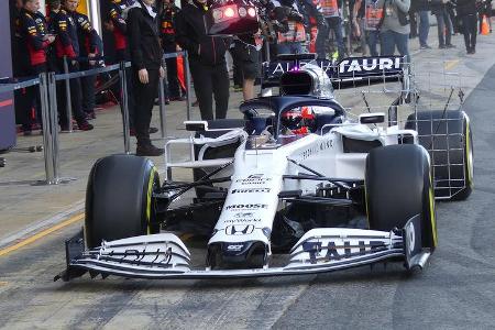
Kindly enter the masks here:
<path id="1" fill-rule="evenodd" d="M 473 136 L 464 111 L 420 111 L 411 114 L 406 129 L 416 130 L 429 151 L 436 197 L 464 200 L 473 190 Z"/>

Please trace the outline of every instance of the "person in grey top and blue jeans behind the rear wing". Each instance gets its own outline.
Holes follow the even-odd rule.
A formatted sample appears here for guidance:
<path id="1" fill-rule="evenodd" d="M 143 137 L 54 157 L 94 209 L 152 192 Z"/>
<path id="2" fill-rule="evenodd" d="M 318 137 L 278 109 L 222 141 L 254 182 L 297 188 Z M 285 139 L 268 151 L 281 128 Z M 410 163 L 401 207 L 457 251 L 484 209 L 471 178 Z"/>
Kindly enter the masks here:
<path id="1" fill-rule="evenodd" d="M 384 9 L 384 19 L 381 25 L 381 55 L 394 55 L 395 48 L 405 61 L 410 63 L 409 55 L 409 20 L 407 18 L 410 0 L 378 0 Z"/>

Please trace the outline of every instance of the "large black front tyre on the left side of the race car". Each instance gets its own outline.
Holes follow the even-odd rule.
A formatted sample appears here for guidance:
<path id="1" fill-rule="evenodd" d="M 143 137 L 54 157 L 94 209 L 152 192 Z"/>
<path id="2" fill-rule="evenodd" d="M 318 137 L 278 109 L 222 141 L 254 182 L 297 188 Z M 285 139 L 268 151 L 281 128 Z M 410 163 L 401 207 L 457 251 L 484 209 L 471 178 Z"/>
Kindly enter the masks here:
<path id="1" fill-rule="evenodd" d="M 86 190 L 87 246 L 158 232 L 152 198 L 157 187 L 158 173 L 150 160 L 132 155 L 98 160 Z"/>

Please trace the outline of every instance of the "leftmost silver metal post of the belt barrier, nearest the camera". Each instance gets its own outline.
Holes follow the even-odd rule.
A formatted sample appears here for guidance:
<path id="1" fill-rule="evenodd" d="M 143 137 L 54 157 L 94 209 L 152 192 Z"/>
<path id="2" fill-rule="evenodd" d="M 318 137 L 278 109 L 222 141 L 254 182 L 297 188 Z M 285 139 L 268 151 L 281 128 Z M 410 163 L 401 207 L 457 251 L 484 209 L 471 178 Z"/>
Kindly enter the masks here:
<path id="1" fill-rule="evenodd" d="M 55 183 L 55 175 L 53 168 L 53 138 L 52 138 L 52 125 L 51 125 L 51 114 L 48 107 L 48 78 L 47 74 L 43 73 L 40 75 L 40 98 L 42 108 L 42 123 L 43 123 L 43 150 L 45 156 L 45 174 L 46 174 L 46 185 L 53 185 Z"/>

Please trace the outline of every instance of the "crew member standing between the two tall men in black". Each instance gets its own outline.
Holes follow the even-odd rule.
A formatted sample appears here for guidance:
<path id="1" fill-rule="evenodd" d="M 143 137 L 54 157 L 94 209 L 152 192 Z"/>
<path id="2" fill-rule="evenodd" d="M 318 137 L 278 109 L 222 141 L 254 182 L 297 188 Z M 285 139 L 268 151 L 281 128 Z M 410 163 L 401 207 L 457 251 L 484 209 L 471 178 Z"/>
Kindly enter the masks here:
<path id="1" fill-rule="evenodd" d="M 175 16 L 179 12 L 179 8 L 174 4 L 173 0 L 164 0 L 164 8 L 160 16 L 160 36 L 162 47 L 165 53 L 175 53 L 180 51 L 175 41 Z M 177 77 L 177 58 L 166 58 L 168 98 L 170 101 L 184 101 L 182 88 Z"/>

